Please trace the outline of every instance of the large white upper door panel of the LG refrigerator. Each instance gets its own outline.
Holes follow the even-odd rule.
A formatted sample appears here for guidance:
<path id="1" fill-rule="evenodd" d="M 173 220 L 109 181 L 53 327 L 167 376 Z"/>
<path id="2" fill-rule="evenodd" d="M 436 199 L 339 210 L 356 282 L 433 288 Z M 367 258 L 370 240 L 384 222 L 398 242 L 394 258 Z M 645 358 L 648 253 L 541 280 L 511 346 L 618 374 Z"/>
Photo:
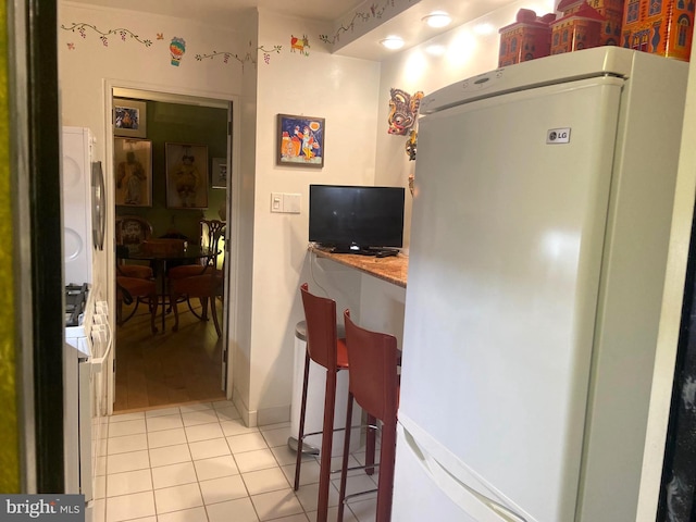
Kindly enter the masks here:
<path id="1" fill-rule="evenodd" d="M 527 521 L 575 509 L 622 85 L 508 94 L 419 128 L 400 412 Z"/>

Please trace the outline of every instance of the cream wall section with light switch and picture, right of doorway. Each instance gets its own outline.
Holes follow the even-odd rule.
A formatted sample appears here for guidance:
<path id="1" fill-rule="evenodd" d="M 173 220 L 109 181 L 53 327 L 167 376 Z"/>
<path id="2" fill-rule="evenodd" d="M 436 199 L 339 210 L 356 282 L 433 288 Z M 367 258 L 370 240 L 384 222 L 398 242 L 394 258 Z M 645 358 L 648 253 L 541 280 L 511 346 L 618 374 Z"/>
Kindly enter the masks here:
<path id="1" fill-rule="evenodd" d="M 248 406 L 251 423 L 257 417 L 268 424 L 289 419 L 295 325 L 303 319 L 298 288 L 309 275 L 309 185 L 374 183 L 380 65 L 328 54 L 313 36 L 327 27 L 264 12 L 259 17 L 265 46 L 287 49 L 291 35 L 308 35 L 311 46 L 309 55 L 272 53 L 269 66 L 259 66 Z M 278 113 L 326 119 L 323 169 L 275 164 Z M 271 213 L 272 191 L 300 194 L 301 212 Z"/>

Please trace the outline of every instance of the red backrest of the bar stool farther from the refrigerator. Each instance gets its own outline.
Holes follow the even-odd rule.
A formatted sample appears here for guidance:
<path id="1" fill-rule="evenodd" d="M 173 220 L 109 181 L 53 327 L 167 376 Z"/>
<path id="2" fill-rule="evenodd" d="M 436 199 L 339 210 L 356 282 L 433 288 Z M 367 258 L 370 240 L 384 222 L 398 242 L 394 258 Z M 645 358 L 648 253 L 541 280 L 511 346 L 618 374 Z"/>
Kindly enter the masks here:
<path id="1" fill-rule="evenodd" d="M 309 286 L 300 286 L 309 357 L 326 370 L 336 371 L 336 301 L 310 294 Z"/>

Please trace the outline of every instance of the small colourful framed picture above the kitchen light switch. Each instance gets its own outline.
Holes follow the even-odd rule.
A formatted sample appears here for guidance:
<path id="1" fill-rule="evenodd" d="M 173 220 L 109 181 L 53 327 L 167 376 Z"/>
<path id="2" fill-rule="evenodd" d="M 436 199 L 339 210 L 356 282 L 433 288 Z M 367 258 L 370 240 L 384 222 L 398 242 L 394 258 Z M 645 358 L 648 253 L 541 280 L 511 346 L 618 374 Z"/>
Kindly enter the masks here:
<path id="1" fill-rule="evenodd" d="M 276 164 L 323 167 L 325 138 L 323 117 L 278 114 Z"/>

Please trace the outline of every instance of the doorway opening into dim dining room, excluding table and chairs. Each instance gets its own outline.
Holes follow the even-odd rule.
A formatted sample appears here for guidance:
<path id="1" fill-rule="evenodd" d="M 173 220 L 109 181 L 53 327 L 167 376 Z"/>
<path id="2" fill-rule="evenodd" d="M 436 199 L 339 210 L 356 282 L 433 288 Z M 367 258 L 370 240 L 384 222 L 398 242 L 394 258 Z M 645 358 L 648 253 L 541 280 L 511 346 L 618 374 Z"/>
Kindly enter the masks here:
<path id="1" fill-rule="evenodd" d="M 114 122 L 112 223 L 124 216 L 136 216 L 151 225 L 152 238 L 178 238 L 186 245 L 199 245 L 201 240 L 207 244 L 206 235 L 201 237 L 200 221 L 227 222 L 233 210 L 232 176 L 226 175 L 233 172 L 232 101 L 114 87 L 111 104 Z M 121 121 L 124 114 L 128 120 L 125 124 Z M 137 151 L 142 157 L 136 158 L 142 166 L 135 181 L 122 175 L 127 169 L 119 170 L 120 162 L 127 162 L 127 156 L 120 158 L 120 154 L 128 151 Z M 182 160 L 188 160 L 184 161 L 186 165 L 192 163 L 196 174 L 185 199 L 181 199 L 173 174 Z M 219 246 L 217 266 L 222 273 L 228 272 L 232 264 L 224 262 L 231 250 L 229 228 L 225 227 Z M 162 290 L 165 268 L 170 266 L 162 263 L 154 274 L 164 302 L 157 311 L 158 332 L 151 332 L 146 303 L 140 303 L 132 318 L 116 326 L 109 402 L 114 412 L 226 398 L 231 277 L 224 274 L 223 290 L 214 298 L 222 335 L 215 331 L 210 306 L 208 320 L 200 319 L 204 314 L 197 298 L 189 299 L 190 309 L 187 301 L 176 304 L 179 326 L 174 332 L 172 304 L 166 302 Z M 134 301 L 123 311 L 124 318 L 135 309 L 137 300 Z"/>

